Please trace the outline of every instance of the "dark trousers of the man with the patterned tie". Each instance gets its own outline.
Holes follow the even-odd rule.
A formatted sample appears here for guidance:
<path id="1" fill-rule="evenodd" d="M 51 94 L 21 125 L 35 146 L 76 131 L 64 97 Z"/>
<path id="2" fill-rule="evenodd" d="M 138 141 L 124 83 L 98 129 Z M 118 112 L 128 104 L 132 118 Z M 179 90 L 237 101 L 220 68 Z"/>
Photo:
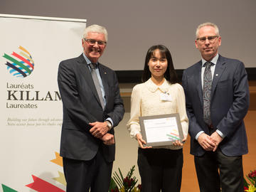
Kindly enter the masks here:
<path id="1" fill-rule="evenodd" d="M 225 156 L 220 149 L 195 156 L 201 192 L 243 192 L 242 156 Z"/>

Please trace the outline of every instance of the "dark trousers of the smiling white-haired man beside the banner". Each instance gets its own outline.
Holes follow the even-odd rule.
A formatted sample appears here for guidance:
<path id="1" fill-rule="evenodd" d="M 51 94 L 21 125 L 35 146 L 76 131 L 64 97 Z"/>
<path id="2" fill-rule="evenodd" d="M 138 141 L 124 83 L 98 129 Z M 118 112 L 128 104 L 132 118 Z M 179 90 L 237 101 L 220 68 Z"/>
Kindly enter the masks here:
<path id="1" fill-rule="evenodd" d="M 107 192 L 113 162 L 105 161 L 102 149 L 90 161 L 63 158 L 67 192 Z"/>

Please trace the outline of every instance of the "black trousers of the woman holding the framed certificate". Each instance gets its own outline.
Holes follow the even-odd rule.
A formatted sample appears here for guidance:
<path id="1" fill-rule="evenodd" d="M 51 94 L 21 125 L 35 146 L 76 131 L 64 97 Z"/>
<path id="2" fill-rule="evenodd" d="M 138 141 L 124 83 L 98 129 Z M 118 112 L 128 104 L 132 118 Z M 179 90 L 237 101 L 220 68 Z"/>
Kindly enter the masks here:
<path id="1" fill-rule="evenodd" d="M 181 189 L 183 150 L 138 149 L 142 192 L 178 192 Z"/>

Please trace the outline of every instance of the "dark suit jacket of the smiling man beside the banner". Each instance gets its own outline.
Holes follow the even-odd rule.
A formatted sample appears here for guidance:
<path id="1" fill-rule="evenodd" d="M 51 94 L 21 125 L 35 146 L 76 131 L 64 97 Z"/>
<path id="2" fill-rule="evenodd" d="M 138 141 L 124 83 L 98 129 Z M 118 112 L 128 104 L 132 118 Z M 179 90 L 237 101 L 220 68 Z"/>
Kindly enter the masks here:
<path id="1" fill-rule="evenodd" d="M 124 115 L 116 74 L 100 63 L 99 70 L 106 95 L 105 110 L 102 110 L 92 75 L 83 55 L 63 60 L 59 65 L 58 87 L 63 101 L 60 156 L 90 160 L 102 145 L 105 159 L 109 162 L 114 161 L 115 146 L 103 144 L 89 132 L 91 128 L 89 122 L 104 122 L 110 117 L 115 127 Z M 114 134 L 114 129 L 110 129 L 110 134 Z"/>

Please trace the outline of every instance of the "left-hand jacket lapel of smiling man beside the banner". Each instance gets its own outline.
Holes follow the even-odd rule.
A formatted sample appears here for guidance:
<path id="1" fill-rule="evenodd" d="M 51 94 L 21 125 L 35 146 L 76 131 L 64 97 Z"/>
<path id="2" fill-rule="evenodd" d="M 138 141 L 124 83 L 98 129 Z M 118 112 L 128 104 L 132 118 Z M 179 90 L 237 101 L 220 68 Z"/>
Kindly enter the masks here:
<path id="1" fill-rule="evenodd" d="M 78 62 L 85 64 L 85 65 L 83 65 L 84 67 L 82 67 L 80 70 L 82 71 L 82 74 L 84 75 L 84 78 L 86 79 L 85 82 L 87 82 L 87 85 L 89 85 L 89 87 L 91 88 L 92 93 L 93 93 L 93 95 L 95 95 L 97 102 L 100 104 L 99 95 L 97 95 L 97 90 L 96 90 L 95 84 L 92 80 L 92 75 L 90 74 L 90 70 L 87 66 L 87 63 L 86 63 L 85 58 L 84 58 L 83 55 L 79 56 L 79 61 Z M 101 104 L 100 104 L 100 106 L 101 106 Z"/>

